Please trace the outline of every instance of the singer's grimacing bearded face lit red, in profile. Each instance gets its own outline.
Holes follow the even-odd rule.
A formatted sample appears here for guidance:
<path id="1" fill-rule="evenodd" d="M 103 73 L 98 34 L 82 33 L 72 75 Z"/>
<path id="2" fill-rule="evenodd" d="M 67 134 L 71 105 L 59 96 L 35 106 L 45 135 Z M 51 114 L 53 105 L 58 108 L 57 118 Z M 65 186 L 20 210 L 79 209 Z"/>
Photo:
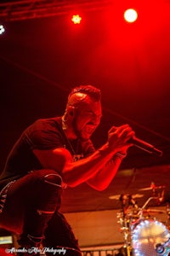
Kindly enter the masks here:
<path id="1" fill-rule="evenodd" d="M 79 103 L 73 120 L 73 129 L 77 137 L 86 140 L 93 134 L 101 119 L 101 103 L 94 102 L 89 96 Z"/>

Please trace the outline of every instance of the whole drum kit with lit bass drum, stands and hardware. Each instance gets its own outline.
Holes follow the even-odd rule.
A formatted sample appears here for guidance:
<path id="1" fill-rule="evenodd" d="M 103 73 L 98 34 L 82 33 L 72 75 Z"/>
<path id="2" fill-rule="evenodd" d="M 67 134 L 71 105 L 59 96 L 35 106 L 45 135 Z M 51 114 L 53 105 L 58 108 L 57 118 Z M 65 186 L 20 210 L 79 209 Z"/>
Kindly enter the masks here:
<path id="1" fill-rule="evenodd" d="M 121 195 L 122 209 L 117 213 L 118 223 L 124 240 L 126 256 L 170 256 L 170 205 L 165 210 L 148 208 L 150 201 L 156 201 L 160 206 L 165 193 L 165 186 L 140 190 L 152 190 L 152 195 L 139 207 L 133 195 Z M 159 192 L 158 192 L 159 191 Z M 160 192 L 161 191 L 161 192 Z M 162 207 L 160 207 L 162 208 Z M 166 221 L 160 221 L 156 216 L 162 214 Z"/>

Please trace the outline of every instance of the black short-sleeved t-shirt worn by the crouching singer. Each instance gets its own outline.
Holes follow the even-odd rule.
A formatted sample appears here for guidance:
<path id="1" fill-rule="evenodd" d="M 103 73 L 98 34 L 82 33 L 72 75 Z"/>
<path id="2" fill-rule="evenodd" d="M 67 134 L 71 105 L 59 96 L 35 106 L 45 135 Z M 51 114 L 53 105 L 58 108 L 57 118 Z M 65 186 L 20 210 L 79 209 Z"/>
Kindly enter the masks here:
<path id="1" fill-rule="evenodd" d="M 77 147 L 78 145 L 78 147 Z M 88 140 L 69 142 L 62 130 L 61 117 L 38 119 L 30 125 L 20 136 L 8 154 L 6 165 L 0 177 L 0 184 L 25 176 L 28 172 L 42 169 L 33 149 L 67 148 L 74 159 L 87 157 L 94 152 L 93 143 Z M 74 151 L 74 152 L 73 152 Z"/>

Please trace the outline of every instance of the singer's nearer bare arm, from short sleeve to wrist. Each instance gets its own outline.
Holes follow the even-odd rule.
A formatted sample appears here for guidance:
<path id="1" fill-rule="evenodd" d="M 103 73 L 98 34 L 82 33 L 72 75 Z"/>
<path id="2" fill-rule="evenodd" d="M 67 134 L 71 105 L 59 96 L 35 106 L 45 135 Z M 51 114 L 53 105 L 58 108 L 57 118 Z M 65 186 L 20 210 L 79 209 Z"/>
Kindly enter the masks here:
<path id="1" fill-rule="evenodd" d="M 54 169 L 63 177 L 64 183 L 75 187 L 94 177 L 101 168 L 111 159 L 112 151 L 108 144 L 102 146 L 85 159 L 72 161 L 70 152 L 65 148 L 54 150 L 34 149 L 33 152 L 41 162 L 43 168 Z"/>

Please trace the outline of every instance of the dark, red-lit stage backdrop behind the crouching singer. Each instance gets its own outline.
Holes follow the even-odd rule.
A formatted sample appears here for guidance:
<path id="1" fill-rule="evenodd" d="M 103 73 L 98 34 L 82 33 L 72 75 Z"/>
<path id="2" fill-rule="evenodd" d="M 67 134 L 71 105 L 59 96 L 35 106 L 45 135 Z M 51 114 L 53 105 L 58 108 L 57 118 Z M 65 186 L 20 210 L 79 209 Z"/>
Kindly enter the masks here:
<path id="1" fill-rule="evenodd" d="M 151 181 L 169 186 L 170 3 L 135 4 L 139 19 L 134 24 L 123 20 L 127 6 L 116 2 L 79 9 L 82 23 L 77 26 L 71 23 L 72 9 L 65 15 L 4 22 L 1 170 L 20 132 L 36 119 L 63 114 L 69 91 L 79 84 L 94 84 L 102 91 L 103 118 L 93 136 L 96 148 L 105 143 L 111 125 L 127 123 L 137 137 L 163 151 L 158 157 L 130 148 L 104 192 L 86 184 L 65 191 L 65 212 L 119 207 L 108 196 L 136 193 Z"/>

